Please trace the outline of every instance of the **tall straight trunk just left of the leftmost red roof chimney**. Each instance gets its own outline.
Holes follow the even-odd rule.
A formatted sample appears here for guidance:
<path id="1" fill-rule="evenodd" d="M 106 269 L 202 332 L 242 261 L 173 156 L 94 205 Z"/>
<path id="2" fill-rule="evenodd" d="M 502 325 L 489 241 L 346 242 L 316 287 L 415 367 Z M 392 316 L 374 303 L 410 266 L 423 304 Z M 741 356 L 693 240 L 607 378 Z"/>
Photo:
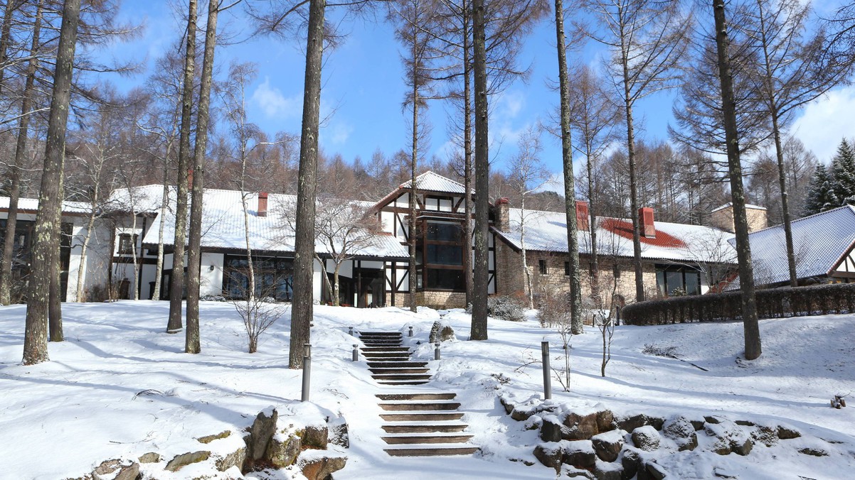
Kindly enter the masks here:
<path id="1" fill-rule="evenodd" d="M 567 78 L 567 47 L 564 38 L 563 0 L 555 0 L 555 33 L 558 53 L 558 88 L 561 94 L 561 158 L 564 167 L 564 214 L 567 219 L 567 255 L 570 276 L 570 333 L 580 335 L 581 277 L 579 275 L 579 233 L 576 225 L 576 189 L 573 176 L 573 144 L 570 137 L 570 87 Z"/>

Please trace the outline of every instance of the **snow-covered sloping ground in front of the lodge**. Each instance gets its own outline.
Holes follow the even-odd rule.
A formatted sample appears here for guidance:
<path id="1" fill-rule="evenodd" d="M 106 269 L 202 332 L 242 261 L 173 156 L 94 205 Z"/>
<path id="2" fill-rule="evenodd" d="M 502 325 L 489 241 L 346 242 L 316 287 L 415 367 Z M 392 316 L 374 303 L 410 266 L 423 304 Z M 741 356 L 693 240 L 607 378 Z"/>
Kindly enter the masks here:
<path id="1" fill-rule="evenodd" d="M 280 414 L 287 414 L 286 404 L 300 398 L 301 382 L 301 372 L 287 368 L 287 315 L 262 338 L 257 354 L 247 354 L 243 325 L 229 303 L 203 302 L 201 312 L 202 353 L 190 355 L 183 353 L 182 334 L 164 332 L 168 302 L 69 303 L 63 308 L 67 341 L 50 343 L 50 362 L 21 366 L 25 307 L 0 307 L 0 478 L 80 477 L 103 460 L 152 451 L 171 458 L 198 447 L 194 438 L 245 428 L 265 407 L 280 406 Z M 433 345 L 426 340 L 439 316 L 429 309 L 414 314 L 315 307 L 311 401 L 341 413 L 350 426 L 349 460 L 335 477 L 555 477 L 532 454 L 540 442 L 537 431 L 510 419 L 498 394 L 542 395 L 540 342 L 551 342 L 553 366 L 559 366 L 557 334 L 534 319 L 490 319 L 489 341 L 466 342 L 469 316 L 452 311 L 445 319 L 458 340 L 445 342 L 442 360 L 433 361 Z M 573 337 L 570 391 L 553 380 L 553 398 L 571 407 L 601 404 L 615 413 L 662 417 L 718 415 L 805 433 L 793 446 L 761 444 L 746 457 L 663 457 L 660 463 L 680 478 L 713 477 L 716 467 L 741 478 L 852 477 L 855 400 L 850 397 L 842 409 L 829 407 L 829 401 L 855 392 L 855 316 L 760 325 L 764 354 L 751 362 L 739 360 L 738 323 L 617 327 L 605 378 L 599 375 L 602 338 L 589 327 Z M 374 397 L 382 388 L 364 361 L 350 361 L 357 341 L 348 335 L 349 326 L 404 332 L 414 358 L 430 360 L 434 374 L 418 388 L 457 392 L 481 454 L 387 456 Z M 414 327 L 412 338 L 406 337 L 408 326 Z M 674 347 L 679 359 L 644 354 L 646 345 Z M 797 452 L 795 446 L 810 442 L 823 443 L 830 454 Z M 183 478 L 186 472 L 164 475 Z"/>

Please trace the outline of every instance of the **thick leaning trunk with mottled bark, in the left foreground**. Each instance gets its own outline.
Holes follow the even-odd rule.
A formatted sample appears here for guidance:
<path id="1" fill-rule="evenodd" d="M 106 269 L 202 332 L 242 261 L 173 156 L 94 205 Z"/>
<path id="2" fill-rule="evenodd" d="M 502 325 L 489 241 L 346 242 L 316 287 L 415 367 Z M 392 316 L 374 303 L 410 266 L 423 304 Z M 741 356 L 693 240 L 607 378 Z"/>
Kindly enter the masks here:
<path id="1" fill-rule="evenodd" d="M 62 8 L 59 46 L 56 53 L 50 118 L 44 146 L 44 171 L 38 194 L 38 214 L 33 229 L 30 291 L 27 296 L 27 320 L 24 335 L 24 365 L 50 360 L 47 346 L 48 307 L 50 304 L 51 244 L 60 225 L 62 212 L 62 159 L 65 155 L 65 132 L 68 103 L 74 73 L 74 49 L 80 22 L 80 0 L 66 0 Z"/>

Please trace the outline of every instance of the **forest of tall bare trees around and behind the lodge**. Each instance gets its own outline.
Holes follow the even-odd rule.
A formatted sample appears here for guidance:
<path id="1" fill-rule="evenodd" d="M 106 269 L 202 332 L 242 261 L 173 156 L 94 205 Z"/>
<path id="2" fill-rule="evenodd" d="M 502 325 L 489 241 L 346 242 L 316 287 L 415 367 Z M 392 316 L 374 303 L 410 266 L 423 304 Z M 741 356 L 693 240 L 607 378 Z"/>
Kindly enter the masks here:
<path id="1" fill-rule="evenodd" d="M 852 6 L 824 16 L 795 0 L 696 7 L 649 0 L 557 0 L 554 6 L 540 0 L 329 5 L 310 0 L 263 6 L 188 0 L 175 10 L 179 27 L 167 39 L 170 48 L 161 58 L 148 59 L 153 67 L 146 68 L 142 59 L 139 64 L 109 63 L 98 54 L 135 38 L 143 28 L 116 20 L 117 3 L 5 1 L 0 194 L 10 201 L 0 303 L 8 304 L 13 290 L 10 239 L 18 199 L 41 201 L 25 362 L 46 360 L 48 337 L 62 341 L 61 307 L 51 293 L 58 289 L 62 200 L 86 202 L 93 221 L 109 211 L 105 202 L 115 188 L 162 184 L 166 194 L 176 188 L 177 281 L 165 323 L 167 331 L 186 331 L 188 353 L 199 350 L 198 274 L 192 272 L 199 266 L 203 188 L 298 196 L 292 367 L 301 365 L 303 344 L 309 341 L 311 298 L 302 295 L 311 289 L 300 284 L 311 282 L 319 196 L 346 192 L 353 200 L 376 201 L 428 170 L 465 184 L 468 191 L 484 192 L 466 199 L 466 211 L 477 217 L 475 231 L 467 231 L 475 238 L 475 256 L 465 259 L 475 339 L 486 338 L 484 236 L 488 202 L 498 197 L 527 210 L 567 211 L 569 225 L 575 222 L 570 209 L 577 198 L 589 202 L 595 217 L 631 219 L 639 300 L 645 293 L 640 207 L 654 208 L 657 220 L 703 225 L 724 202 L 733 201 L 736 210 L 743 202 L 758 203 L 768 208 L 770 224 L 784 224 L 788 232 L 788 223 L 805 211 L 814 170 L 828 161 L 817 159 L 789 129 L 806 103 L 852 78 Z M 334 20 L 325 17 L 327 9 Z M 257 65 L 221 65 L 225 62 L 217 53 L 235 38 L 217 28 L 222 12 L 251 20 L 256 30 L 246 32 L 248 38 L 289 43 L 303 52 L 300 131 L 267 132 L 249 118 L 247 94 L 257 81 Z M 540 128 L 560 132 L 563 187 L 562 173 L 523 173 L 521 162 L 555 165 L 559 160 L 536 158 L 540 130 L 527 133 L 530 143 L 516 163 L 511 155 L 497 154 L 498 141 L 488 133 L 492 98 L 528 79 L 530 66 L 521 60 L 522 51 L 546 18 L 557 29 L 559 78 L 552 80 L 560 92 L 552 107 L 560 106 L 561 125 L 541 120 Z M 324 66 L 347 41 L 342 26 L 348 21 L 388 22 L 401 45 L 404 77 L 398 81 L 407 87 L 401 105 L 411 128 L 408 138 L 399 139 L 399 149 L 376 149 L 365 152 L 366 158 L 323 151 L 319 141 L 327 120 L 321 112 Z M 601 49 L 601 64 L 585 64 L 580 52 L 586 42 Z M 140 86 L 120 91 L 108 73 L 139 79 Z M 637 105 L 666 90 L 676 92 L 674 120 L 669 138 L 656 138 L 640 128 Z M 426 154 L 433 139 L 424 112 L 434 105 L 449 116 L 445 134 L 453 153 L 447 158 Z M 505 170 L 498 162 L 516 167 Z M 736 230 L 739 234 L 740 225 Z M 84 249 L 88 241 L 80 239 Z M 792 242 L 787 243 L 794 282 Z M 182 318 L 185 245 L 189 270 Z M 415 259 L 414 247 L 410 250 Z"/>

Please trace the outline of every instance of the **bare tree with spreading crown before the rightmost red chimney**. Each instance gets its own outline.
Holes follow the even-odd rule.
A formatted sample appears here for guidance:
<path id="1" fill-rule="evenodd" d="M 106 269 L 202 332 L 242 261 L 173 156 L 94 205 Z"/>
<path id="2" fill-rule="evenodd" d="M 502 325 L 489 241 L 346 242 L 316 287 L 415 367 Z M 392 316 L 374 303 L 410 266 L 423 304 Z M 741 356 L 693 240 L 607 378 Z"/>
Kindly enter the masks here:
<path id="1" fill-rule="evenodd" d="M 657 91 L 675 86 L 676 67 L 687 44 L 691 19 L 682 15 L 677 2 L 657 0 L 582 0 L 599 21 L 598 30 L 588 29 L 591 38 L 612 51 L 611 71 L 620 85 L 627 125 L 629 167 L 629 214 L 633 220 L 635 296 L 642 301 L 644 278 L 641 266 L 638 179 L 635 172 L 635 102 Z"/>

